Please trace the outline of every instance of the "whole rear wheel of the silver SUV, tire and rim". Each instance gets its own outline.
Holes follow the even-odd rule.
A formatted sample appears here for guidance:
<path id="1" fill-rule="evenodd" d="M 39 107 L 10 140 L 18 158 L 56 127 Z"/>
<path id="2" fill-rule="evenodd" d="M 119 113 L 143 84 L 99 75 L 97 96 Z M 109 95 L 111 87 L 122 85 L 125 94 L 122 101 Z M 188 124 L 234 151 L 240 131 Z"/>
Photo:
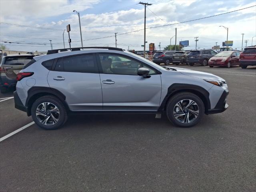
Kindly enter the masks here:
<path id="1" fill-rule="evenodd" d="M 68 119 L 66 108 L 54 96 L 38 98 L 32 105 L 31 115 L 34 122 L 46 130 L 58 129 Z"/>

